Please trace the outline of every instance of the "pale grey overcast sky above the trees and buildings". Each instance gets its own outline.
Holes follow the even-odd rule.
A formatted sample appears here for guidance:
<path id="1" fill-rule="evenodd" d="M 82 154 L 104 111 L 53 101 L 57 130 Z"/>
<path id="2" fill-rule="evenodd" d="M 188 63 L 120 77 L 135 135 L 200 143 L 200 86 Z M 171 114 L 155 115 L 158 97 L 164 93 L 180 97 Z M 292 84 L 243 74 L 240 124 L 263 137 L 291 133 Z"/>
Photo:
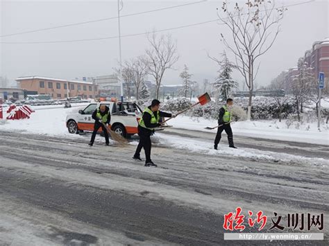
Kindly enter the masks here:
<path id="1" fill-rule="evenodd" d="M 61 26 L 117 16 L 117 1 L 1 1 L 1 34 Z M 191 1 L 128 1 L 124 0 L 121 15 L 176 6 Z M 290 5 L 300 1 L 283 1 Z M 235 2 L 235 1 L 234 1 Z M 121 35 L 145 33 L 155 29 L 174 28 L 217 19 L 217 7 L 222 1 L 205 1 L 143 15 L 121 18 Z M 282 3 L 282 2 L 280 2 Z M 280 5 L 279 5 L 280 6 Z M 258 85 L 267 85 L 278 73 L 296 66 L 298 58 L 313 42 L 329 36 L 328 1 L 317 0 L 292 6 L 282 20 L 281 32 L 271 50 L 261 58 Z M 212 81 L 217 76 L 217 64 L 207 57 L 219 56 L 225 47 L 219 34 L 228 34 L 225 26 L 216 22 L 169 30 L 180 56 L 175 70 L 167 71 L 164 84 L 180 84 L 179 73 L 184 64 L 194 74 L 194 80 Z M 44 42 L 72 39 L 111 37 L 118 34 L 117 19 L 81 26 L 44 30 L 37 33 L 1 37 L 1 42 Z M 160 35 L 160 33 L 159 33 Z M 148 46 L 146 35 L 123 37 L 123 60 L 144 54 Z M 119 59 L 118 39 L 56 44 L 0 44 L 0 76 L 15 80 L 19 76 L 47 76 L 74 79 L 113 73 Z M 241 82 L 236 72 L 234 77 Z"/>

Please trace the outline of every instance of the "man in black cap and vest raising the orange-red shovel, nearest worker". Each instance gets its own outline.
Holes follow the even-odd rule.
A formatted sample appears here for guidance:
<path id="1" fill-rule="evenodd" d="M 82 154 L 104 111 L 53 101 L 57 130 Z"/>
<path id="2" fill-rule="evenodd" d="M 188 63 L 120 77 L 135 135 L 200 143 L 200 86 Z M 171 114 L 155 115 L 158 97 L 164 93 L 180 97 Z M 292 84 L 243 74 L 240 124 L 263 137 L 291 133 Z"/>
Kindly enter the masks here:
<path id="1" fill-rule="evenodd" d="M 140 152 L 142 148 L 145 151 L 145 166 L 157 166 L 151 160 L 151 135 L 154 133 L 154 128 L 158 128 L 160 117 L 176 117 L 175 115 L 159 111 L 160 101 L 152 100 L 151 106 L 146 107 L 142 118 L 138 123 L 138 135 L 140 136 L 140 143 L 138 143 L 133 159 L 142 161 Z"/>

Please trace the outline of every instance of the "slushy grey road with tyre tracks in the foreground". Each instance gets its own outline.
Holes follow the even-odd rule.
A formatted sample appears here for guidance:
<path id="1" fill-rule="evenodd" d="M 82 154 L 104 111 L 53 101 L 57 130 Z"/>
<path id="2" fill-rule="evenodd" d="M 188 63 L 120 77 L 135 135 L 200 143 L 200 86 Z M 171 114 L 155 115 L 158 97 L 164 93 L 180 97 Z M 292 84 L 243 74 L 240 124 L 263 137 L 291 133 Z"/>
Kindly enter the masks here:
<path id="1" fill-rule="evenodd" d="M 89 135 L 0 132 L 0 245 L 237 245 L 223 241 L 223 215 L 236 207 L 268 216 L 324 213 L 325 241 L 303 245 L 328 244 L 328 146 L 237 137 L 242 148 L 227 155 L 225 143 L 219 154 L 189 145 L 193 138 L 211 146 L 213 134 L 157 135 L 159 166 L 144 168 L 131 159 L 135 139 L 125 148 L 89 148 Z"/>

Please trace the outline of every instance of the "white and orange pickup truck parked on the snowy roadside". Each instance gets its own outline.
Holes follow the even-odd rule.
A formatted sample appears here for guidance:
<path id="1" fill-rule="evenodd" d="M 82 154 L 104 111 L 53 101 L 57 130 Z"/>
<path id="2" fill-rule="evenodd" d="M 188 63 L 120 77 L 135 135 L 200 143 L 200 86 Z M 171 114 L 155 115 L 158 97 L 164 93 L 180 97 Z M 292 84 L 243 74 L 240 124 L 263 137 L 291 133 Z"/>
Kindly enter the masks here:
<path id="1" fill-rule="evenodd" d="M 138 132 L 137 126 L 140 117 L 142 117 L 142 109 L 136 103 L 103 101 L 100 103 L 90 103 L 85 109 L 79 110 L 78 113 L 68 114 L 66 125 L 69 133 L 93 131 L 95 121 L 92 118 L 92 113 L 101 104 L 108 106 L 110 109 L 110 127 L 113 131 L 123 137 L 130 137 Z M 99 132 L 101 132 L 101 128 Z"/>

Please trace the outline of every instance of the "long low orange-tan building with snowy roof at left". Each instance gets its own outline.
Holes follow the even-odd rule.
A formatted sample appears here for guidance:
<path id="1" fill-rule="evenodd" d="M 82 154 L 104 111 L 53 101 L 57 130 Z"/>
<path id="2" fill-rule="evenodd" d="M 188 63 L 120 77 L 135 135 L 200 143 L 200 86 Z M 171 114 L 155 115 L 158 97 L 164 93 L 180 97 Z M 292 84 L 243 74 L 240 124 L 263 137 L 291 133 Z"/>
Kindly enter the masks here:
<path id="1" fill-rule="evenodd" d="M 19 77 L 16 79 L 19 88 L 26 89 L 26 94 L 49 94 L 52 98 L 95 98 L 99 96 L 99 87 L 94 82 L 63 80 L 40 76 Z"/>

